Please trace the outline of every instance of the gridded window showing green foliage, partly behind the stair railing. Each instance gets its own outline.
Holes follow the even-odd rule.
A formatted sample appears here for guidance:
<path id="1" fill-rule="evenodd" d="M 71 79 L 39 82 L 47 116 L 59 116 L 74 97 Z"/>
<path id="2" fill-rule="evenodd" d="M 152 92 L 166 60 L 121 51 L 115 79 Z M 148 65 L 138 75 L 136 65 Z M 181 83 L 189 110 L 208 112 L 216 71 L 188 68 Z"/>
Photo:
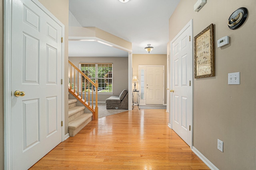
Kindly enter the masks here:
<path id="1" fill-rule="evenodd" d="M 92 81 L 98 80 L 98 92 L 100 93 L 112 93 L 112 63 L 80 63 L 80 70 L 88 76 Z M 84 80 L 82 80 L 84 91 Z M 94 89 L 96 90 L 96 89 Z"/>

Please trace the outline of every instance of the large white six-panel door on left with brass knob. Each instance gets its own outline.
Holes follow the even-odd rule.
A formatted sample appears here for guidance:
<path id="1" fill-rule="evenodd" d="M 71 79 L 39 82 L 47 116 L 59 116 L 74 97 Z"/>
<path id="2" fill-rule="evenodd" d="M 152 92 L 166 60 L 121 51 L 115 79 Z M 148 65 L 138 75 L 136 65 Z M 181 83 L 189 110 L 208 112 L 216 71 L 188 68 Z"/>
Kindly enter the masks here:
<path id="1" fill-rule="evenodd" d="M 12 166 L 25 170 L 62 141 L 62 27 L 31 0 L 12 3 Z M 25 96 L 16 97 L 20 90 Z"/>

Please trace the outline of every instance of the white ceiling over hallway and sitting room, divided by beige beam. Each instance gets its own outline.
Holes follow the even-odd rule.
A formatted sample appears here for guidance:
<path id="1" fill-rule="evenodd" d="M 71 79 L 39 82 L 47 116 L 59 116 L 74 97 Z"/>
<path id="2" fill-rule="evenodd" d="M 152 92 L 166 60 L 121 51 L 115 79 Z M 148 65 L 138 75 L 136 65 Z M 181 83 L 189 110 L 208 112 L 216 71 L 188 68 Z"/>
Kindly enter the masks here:
<path id="1" fill-rule="evenodd" d="M 70 0 L 70 26 L 98 27 L 132 42 L 132 53 L 166 54 L 169 18 L 180 0 Z M 94 41 L 69 41 L 70 57 L 128 57 L 128 53 Z"/>

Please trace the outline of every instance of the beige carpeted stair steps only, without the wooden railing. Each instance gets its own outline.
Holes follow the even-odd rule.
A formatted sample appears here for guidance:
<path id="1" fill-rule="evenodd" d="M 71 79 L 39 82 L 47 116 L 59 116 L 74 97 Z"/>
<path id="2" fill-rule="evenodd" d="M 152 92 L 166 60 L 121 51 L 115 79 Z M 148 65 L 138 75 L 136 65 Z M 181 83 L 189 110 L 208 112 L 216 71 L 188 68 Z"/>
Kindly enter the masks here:
<path id="1" fill-rule="evenodd" d="M 68 133 L 74 137 L 91 120 L 92 113 L 84 113 L 84 106 L 76 106 L 76 99 L 68 100 Z"/>

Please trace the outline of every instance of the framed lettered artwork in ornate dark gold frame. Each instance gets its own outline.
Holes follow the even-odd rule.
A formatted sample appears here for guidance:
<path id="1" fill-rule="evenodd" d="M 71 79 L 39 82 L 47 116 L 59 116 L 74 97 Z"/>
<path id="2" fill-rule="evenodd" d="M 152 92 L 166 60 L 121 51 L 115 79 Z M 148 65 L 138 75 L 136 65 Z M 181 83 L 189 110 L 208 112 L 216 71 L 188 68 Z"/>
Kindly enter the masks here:
<path id="1" fill-rule="evenodd" d="M 213 23 L 194 37 L 195 78 L 215 76 Z"/>

